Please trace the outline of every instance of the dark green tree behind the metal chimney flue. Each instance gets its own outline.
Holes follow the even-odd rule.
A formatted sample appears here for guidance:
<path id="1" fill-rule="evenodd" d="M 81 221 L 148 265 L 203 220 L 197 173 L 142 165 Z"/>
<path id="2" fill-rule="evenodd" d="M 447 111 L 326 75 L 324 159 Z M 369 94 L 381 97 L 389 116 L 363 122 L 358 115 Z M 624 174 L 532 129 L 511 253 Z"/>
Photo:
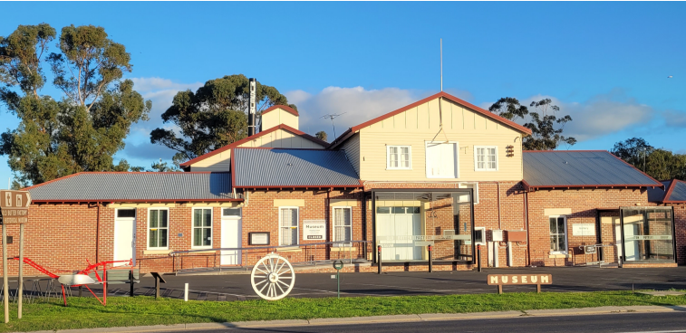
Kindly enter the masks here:
<path id="1" fill-rule="evenodd" d="M 150 142 L 178 151 L 175 164 L 206 154 L 247 136 L 248 79 L 243 74 L 210 80 L 195 92 L 179 91 L 162 114 L 175 128 L 156 128 Z M 256 84 L 257 112 L 288 100 L 274 87 Z"/>

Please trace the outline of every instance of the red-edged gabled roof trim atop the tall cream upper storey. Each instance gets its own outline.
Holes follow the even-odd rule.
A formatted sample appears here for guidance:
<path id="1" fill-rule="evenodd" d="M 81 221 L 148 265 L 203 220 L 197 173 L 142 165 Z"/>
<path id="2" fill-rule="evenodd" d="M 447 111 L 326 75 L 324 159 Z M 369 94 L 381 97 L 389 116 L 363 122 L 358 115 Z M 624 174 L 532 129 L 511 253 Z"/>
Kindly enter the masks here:
<path id="1" fill-rule="evenodd" d="M 401 109 L 396 109 L 396 110 L 391 111 L 389 113 L 386 113 L 380 117 L 374 118 L 374 119 L 369 120 L 369 121 L 365 121 L 360 125 L 353 126 L 352 128 L 348 128 L 348 130 L 343 132 L 343 134 L 341 134 L 341 136 L 339 136 L 338 138 L 333 140 L 331 145 L 329 145 L 329 148 L 336 147 L 339 144 L 343 143 L 343 141 L 345 141 L 347 138 L 353 136 L 353 134 L 355 134 L 355 132 L 357 132 L 358 130 L 360 130 L 362 128 L 366 128 L 368 126 L 376 124 L 377 122 L 382 121 L 383 119 L 389 119 L 389 118 L 391 118 L 397 114 L 400 114 L 402 112 L 407 111 L 408 109 L 416 108 L 416 107 L 420 106 L 421 104 L 424 104 L 430 100 L 436 100 L 438 98 L 444 98 L 446 100 L 450 100 L 450 101 L 457 103 L 457 104 L 459 104 L 465 108 L 471 109 L 471 110 L 477 112 L 478 114 L 485 116 L 486 118 L 493 119 L 493 120 L 498 121 L 502 124 L 505 124 L 511 128 L 515 128 L 522 133 L 531 135 L 531 129 L 529 129 L 529 128 L 525 128 L 524 126 L 519 125 L 512 120 L 502 118 L 502 117 L 498 116 L 497 114 L 495 114 L 491 111 L 488 111 L 487 109 L 481 109 L 478 106 L 469 103 L 468 101 L 460 100 L 459 98 L 452 96 L 445 91 L 440 91 L 439 93 L 433 94 L 433 95 L 427 97 L 426 99 L 418 100 L 418 101 L 416 101 L 416 102 L 414 102 L 408 106 L 402 107 Z"/>

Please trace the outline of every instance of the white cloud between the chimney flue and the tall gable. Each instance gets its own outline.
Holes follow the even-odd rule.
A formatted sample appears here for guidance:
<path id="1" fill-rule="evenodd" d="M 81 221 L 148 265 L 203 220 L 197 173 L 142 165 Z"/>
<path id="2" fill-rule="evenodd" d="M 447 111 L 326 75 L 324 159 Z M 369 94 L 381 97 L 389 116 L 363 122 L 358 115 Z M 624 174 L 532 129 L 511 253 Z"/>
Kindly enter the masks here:
<path id="1" fill-rule="evenodd" d="M 447 90 L 447 92 L 461 99 L 471 98 L 469 92 L 466 91 Z M 435 91 L 399 88 L 365 90 L 362 87 L 327 87 L 314 94 L 303 90 L 288 91 L 285 92 L 285 96 L 290 103 L 298 107 L 302 131 L 314 135 L 324 130 L 329 134 L 329 140 L 333 140 L 331 120 L 323 119 L 324 115 L 341 114 L 340 117 L 333 119 L 336 135 L 341 135 L 348 128 L 394 109 L 400 109 L 433 93 Z"/>

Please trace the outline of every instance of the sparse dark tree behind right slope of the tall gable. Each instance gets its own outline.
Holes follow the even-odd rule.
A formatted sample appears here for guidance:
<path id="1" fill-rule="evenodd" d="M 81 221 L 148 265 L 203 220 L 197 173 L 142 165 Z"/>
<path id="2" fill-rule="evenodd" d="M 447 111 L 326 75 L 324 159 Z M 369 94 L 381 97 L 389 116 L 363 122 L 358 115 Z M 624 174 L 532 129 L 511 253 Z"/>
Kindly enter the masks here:
<path id="1" fill-rule="evenodd" d="M 536 111 L 529 111 L 516 98 L 504 97 L 493 103 L 488 110 L 505 119 L 526 121 L 523 126 L 531 129 L 531 135 L 525 137 L 522 142 L 526 150 L 554 150 L 562 144 L 575 145 L 576 138 L 562 135 L 565 124 L 572 121 L 572 117 L 566 115 L 557 118 L 556 112 L 559 112 L 560 108 L 553 105 L 552 100 L 532 101 L 529 107 L 535 108 Z"/>

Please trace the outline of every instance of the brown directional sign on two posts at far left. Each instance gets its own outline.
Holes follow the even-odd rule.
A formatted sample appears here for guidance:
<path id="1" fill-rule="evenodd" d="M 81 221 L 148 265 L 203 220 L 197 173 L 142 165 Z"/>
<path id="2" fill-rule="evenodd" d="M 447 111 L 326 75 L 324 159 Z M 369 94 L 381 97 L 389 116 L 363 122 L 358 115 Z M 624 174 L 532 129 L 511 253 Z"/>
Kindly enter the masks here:
<path id="1" fill-rule="evenodd" d="M 3 225 L 3 307 L 5 323 L 10 321 L 9 286 L 7 281 L 7 224 L 19 224 L 19 287 L 17 293 L 17 318 L 22 319 L 24 299 L 24 224 L 28 222 L 31 195 L 28 191 L 0 191 L 0 224 Z"/>

